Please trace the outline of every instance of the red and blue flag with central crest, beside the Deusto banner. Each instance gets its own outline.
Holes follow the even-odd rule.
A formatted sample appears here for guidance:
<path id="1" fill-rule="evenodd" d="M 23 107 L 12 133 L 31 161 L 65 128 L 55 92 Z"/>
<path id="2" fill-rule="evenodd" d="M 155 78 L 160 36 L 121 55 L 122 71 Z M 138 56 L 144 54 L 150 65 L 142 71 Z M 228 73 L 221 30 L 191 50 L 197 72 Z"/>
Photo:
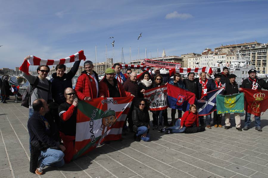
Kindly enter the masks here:
<path id="1" fill-rule="evenodd" d="M 191 104 L 197 102 L 194 93 L 183 90 L 174 85 L 167 84 L 167 94 L 169 107 L 182 111 L 189 110 Z"/>

